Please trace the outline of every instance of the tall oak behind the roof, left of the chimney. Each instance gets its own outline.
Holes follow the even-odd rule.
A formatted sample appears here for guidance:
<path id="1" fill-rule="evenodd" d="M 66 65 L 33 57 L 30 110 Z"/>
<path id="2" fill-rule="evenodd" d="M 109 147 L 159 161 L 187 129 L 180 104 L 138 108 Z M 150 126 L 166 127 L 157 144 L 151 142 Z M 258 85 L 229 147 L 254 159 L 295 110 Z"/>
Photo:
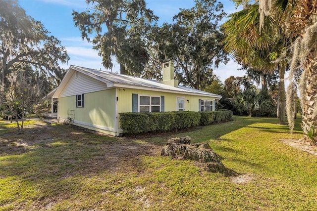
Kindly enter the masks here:
<path id="1" fill-rule="evenodd" d="M 140 75 L 149 59 L 144 40 L 158 17 L 146 7 L 145 0 L 86 2 L 93 8 L 72 13 L 83 40 L 94 44 L 106 68 L 112 68 L 114 56 L 121 74 Z"/>

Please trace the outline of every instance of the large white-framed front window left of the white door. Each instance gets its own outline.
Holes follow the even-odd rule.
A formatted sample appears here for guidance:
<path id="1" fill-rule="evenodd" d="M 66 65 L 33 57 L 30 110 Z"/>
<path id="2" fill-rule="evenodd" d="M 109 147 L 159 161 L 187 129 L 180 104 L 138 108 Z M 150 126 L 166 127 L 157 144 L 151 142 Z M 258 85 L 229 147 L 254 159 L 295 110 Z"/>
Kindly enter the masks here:
<path id="1" fill-rule="evenodd" d="M 142 96 L 139 100 L 139 112 L 159 112 L 160 97 L 157 96 Z"/>

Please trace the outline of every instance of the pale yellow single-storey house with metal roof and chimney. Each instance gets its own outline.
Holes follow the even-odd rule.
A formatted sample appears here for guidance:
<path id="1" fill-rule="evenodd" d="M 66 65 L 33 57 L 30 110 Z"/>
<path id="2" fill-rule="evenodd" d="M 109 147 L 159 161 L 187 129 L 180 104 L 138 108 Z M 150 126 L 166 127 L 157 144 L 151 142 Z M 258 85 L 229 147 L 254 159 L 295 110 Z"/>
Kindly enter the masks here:
<path id="1" fill-rule="evenodd" d="M 161 82 L 71 65 L 52 96 L 61 121 L 111 135 L 122 133 L 119 113 L 213 111 L 220 98 L 178 85 L 172 62 L 163 64 Z"/>

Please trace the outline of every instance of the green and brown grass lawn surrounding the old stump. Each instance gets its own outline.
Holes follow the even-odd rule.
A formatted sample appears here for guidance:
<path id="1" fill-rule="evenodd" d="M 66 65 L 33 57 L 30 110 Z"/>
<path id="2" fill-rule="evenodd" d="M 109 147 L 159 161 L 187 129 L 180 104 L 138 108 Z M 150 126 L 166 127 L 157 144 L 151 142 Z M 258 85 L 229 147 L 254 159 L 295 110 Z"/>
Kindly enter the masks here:
<path id="1" fill-rule="evenodd" d="M 276 118 L 234 121 L 168 135 L 108 137 L 74 126 L 28 122 L 25 134 L 0 121 L 0 211 L 317 210 L 317 156 L 280 139 Z M 222 163 L 252 180 L 160 157 L 170 137 L 208 141 Z"/>

